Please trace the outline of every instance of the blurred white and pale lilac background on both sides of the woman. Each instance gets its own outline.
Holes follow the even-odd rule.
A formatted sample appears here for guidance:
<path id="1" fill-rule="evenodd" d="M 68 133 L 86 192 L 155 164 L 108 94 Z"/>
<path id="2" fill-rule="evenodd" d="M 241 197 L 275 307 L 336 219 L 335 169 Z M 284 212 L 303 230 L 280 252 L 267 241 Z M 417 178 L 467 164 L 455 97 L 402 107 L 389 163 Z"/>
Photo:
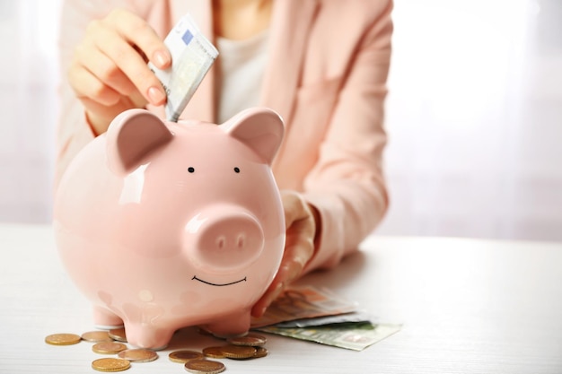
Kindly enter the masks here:
<path id="1" fill-rule="evenodd" d="M 60 1 L 0 0 L 0 222 L 48 223 Z M 395 0 L 385 235 L 562 241 L 562 1 Z"/>

